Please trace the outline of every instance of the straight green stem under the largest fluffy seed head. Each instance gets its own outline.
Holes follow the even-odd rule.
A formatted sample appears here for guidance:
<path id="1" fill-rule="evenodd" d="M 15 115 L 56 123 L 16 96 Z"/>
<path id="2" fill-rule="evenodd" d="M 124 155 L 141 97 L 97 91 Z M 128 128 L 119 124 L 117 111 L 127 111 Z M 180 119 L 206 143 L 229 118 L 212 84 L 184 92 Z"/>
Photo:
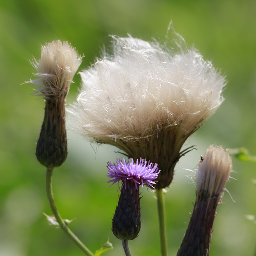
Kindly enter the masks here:
<path id="1" fill-rule="evenodd" d="M 166 216 L 163 189 L 156 189 L 161 255 L 167 256 Z"/>

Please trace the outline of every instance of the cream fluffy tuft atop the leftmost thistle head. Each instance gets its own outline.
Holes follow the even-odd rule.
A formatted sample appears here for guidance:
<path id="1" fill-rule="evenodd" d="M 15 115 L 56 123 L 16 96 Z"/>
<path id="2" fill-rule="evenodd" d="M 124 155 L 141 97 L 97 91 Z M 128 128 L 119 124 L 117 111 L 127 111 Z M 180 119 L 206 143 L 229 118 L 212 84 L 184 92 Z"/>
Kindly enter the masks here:
<path id="1" fill-rule="evenodd" d="M 36 94 L 50 100 L 68 93 L 74 74 L 82 62 L 76 49 L 68 42 L 60 40 L 42 46 L 40 60 L 35 60 L 32 65 L 39 78 L 30 80 L 37 87 Z"/>

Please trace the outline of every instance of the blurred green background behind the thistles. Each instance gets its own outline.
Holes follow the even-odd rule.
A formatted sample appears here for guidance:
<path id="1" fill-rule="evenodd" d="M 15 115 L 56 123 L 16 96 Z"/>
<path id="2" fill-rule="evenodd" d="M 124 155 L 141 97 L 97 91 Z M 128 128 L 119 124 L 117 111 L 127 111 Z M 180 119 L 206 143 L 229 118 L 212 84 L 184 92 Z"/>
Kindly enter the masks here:
<path id="1" fill-rule="evenodd" d="M 176 32 L 197 48 L 226 76 L 224 103 L 185 146 L 195 144 L 176 167 L 166 194 L 169 255 L 175 256 L 190 219 L 195 185 L 187 177 L 210 144 L 244 146 L 256 155 L 256 1 L 168 0 L 2 0 L 0 2 L 0 256 L 80 256 L 82 252 L 61 230 L 49 226 L 44 192 L 45 168 L 35 157 L 44 114 L 43 100 L 30 96 L 34 78 L 30 64 L 40 58 L 41 45 L 68 40 L 84 54 L 79 70 L 99 57 L 109 35 L 165 40 L 172 20 Z M 78 94 L 76 74 L 67 104 Z M 22 84 L 22 85 L 21 85 Z M 118 201 L 109 187 L 106 162 L 121 155 L 111 146 L 96 146 L 68 131 L 69 154 L 56 168 L 53 188 L 63 218 L 75 220 L 71 229 L 93 252 L 108 237 L 124 255 L 111 231 Z M 228 193 L 217 209 L 211 256 L 253 256 L 256 224 L 256 164 L 233 160 Z M 142 229 L 130 242 L 132 255 L 160 255 L 156 200 L 142 189 Z"/>

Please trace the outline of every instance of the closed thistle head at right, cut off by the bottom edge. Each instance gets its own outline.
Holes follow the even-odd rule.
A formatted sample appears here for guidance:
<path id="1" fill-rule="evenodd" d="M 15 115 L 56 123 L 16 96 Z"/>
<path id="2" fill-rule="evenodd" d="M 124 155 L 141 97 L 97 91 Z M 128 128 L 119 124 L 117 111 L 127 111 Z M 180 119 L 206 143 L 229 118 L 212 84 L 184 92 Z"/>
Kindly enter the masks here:
<path id="1" fill-rule="evenodd" d="M 231 171 L 228 150 L 210 146 L 198 164 L 196 202 L 177 256 L 209 256 L 215 211 Z"/>

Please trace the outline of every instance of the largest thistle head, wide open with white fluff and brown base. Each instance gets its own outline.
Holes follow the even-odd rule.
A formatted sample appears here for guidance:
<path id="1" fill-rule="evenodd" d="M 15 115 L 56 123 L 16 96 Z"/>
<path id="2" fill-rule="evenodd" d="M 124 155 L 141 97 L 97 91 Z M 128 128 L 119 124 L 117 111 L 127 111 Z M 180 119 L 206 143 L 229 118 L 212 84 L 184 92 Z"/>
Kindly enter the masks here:
<path id="1" fill-rule="evenodd" d="M 80 72 L 81 92 L 69 110 L 76 132 L 158 163 L 156 188 L 169 186 L 182 145 L 220 106 L 225 85 L 210 62 L 173 35 L 178 51 L 113 36 L 113 54 Z"/>

